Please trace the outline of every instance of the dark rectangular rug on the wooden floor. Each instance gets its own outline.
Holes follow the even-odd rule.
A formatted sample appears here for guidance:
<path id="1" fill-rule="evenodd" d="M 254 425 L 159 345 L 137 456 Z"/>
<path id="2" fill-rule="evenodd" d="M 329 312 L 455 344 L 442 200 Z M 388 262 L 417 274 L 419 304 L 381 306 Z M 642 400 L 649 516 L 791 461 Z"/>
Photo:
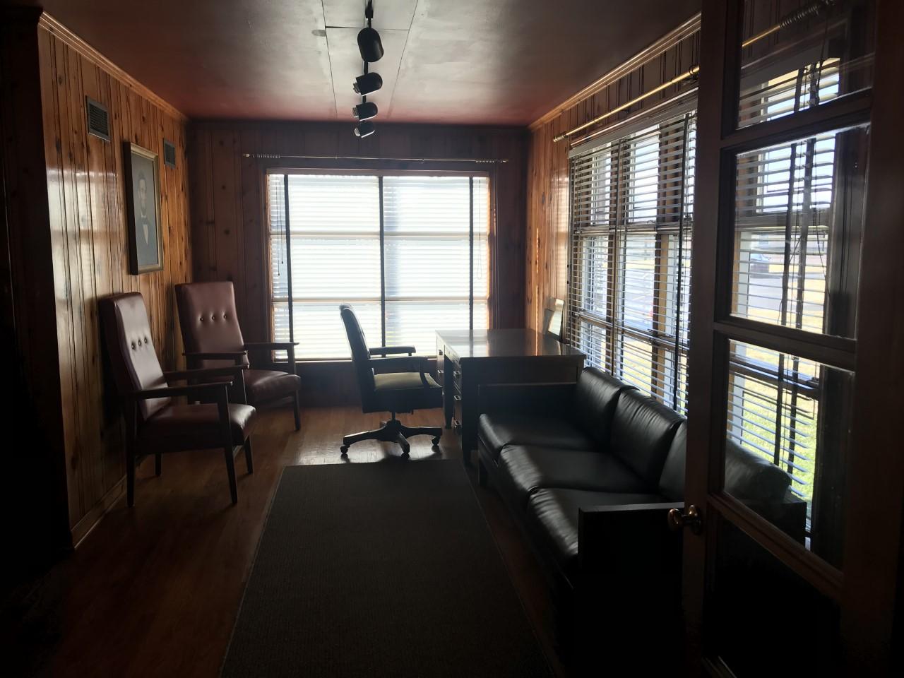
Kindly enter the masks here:
<path id="1" fill-rule="evenodd" d="M 288 466 L 222 675 L 551 671 L 461 462 Z"/>

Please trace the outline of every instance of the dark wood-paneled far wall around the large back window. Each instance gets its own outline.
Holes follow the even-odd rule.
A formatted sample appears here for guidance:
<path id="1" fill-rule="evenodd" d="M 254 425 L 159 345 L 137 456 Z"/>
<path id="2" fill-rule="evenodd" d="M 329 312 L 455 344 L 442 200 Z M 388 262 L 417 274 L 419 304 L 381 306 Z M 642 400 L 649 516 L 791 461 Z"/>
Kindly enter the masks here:
<path id="1" fill-rule="evenodd" d="M 269 166 L 317 166 L 283 157 L 243 154 L 353 156 L 360 158 L 505 159 L 495 166 L 496 231 L 494 303 L 498 325 L 521 327 L 524 317 L 524 205 L 526 133 L 507 127 L 440 127 L 381 124 L 363 140 L 344 123 L 193 123 L 189 135 L 195 280 L 232 280 L 242 332 L 267 341 L 268 254 L 264 174 Z M 379 162 L 379 161 L 378 161 Z M 387 161 L 388 162 L 388 161 Z M 334 166 L 353 166 L 342 160 Z M 453 168 L 453 165 L 449 165 Z M 460 167 L 455 167 L 460 169 Z"/>

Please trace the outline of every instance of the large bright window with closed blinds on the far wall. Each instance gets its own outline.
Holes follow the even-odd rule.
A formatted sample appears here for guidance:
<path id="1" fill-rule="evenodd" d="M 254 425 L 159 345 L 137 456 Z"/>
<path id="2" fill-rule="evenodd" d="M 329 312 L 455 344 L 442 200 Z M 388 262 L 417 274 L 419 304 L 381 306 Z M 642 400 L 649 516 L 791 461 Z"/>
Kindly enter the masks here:
<path id="1" fill-rule="evenodd" d="M 350 356 L 344 302 L 374 346 L 486 329 L 485 176 L 268 174 L 268 192 L 273 335 L 299 359 Z"/>

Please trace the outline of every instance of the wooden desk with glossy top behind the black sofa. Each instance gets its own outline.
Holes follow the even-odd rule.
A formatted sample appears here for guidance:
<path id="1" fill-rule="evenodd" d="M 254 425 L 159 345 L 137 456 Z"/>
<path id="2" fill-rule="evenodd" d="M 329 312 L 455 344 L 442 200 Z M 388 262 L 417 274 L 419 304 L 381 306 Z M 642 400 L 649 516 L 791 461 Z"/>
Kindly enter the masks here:
<path id="1" fill-rule="evenodd" d="M 477 389 L 486 383 L 577 381 L 584 354 L 533 330 L 437 332 L 437 368 L 446 428 L 461 433 L 465 464 L 477 447 Z"/>

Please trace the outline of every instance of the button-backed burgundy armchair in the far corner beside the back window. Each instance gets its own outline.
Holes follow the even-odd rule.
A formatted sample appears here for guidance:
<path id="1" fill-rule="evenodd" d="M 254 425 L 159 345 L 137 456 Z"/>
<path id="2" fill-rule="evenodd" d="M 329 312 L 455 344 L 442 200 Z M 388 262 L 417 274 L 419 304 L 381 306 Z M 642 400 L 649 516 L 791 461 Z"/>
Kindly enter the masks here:
<path id="1" fill-rule="evenodd" d="M 301 428 L 298 408 L 300 380 L 295 373 L 297 342 L 246 342 L 235 310 L 235 291 L 229 281 L 176 285 L 175 299 L 189 367 L 249 366 L 243 383 L 239 381 L 235 388 L 238 400 L 247 398 L 254 407 L 278 400 L 292 400 L 295 429 Z M 249 353 L 252 356 L 254 353 L 272 355 L 273 351 L 288 353 L 285 371 L 256 369 L 249 362 Z M 269 366 L 272 366 L 272 360 Z"/>

